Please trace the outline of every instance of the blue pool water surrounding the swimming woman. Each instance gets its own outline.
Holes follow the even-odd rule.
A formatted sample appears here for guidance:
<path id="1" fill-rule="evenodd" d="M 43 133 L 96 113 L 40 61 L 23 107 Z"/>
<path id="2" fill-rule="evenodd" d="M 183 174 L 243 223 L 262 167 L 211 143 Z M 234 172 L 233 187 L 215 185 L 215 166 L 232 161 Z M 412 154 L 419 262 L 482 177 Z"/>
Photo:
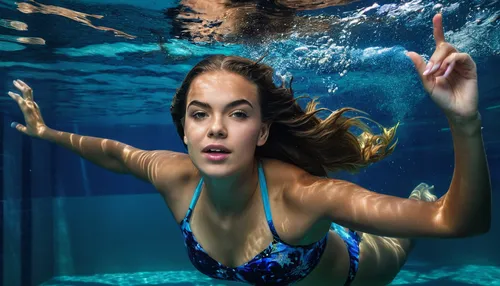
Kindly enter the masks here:
<path id="1" fill-rule="evenodd" d="M 194 270 L 175 221 L 151 186 L 9 128 L 23 122 L 6 95 L 14 90 L 12 80 L 34 89 L 54 129 L 185 152 L 169 106 L 189 69 L 210 54 L 257 59 L 268 52 L 264 62 L 277 77 L 293 75 L 295 94 L 319 96 L 330 109 L 364 110 L 387 126 L 400 122 L 393 155 L 357 175 L 332 176 L 401 197 L 427 182 L 440 196 L 453 171 L 450 133 L 404 55 L 412 50 L 430 57 L 437 11 L 447 40 L 477 63 L 493 226 L 479 237 L 419 240 L 393 285 L 500 285 L 499 1 L 358 1 L 299 13 L 329 23 L 324 31 L 261 44 L 178 37 L 163 13 L 177 1 L 37 3 L 104 17 L 78 22 L 29 14 L 0 0 L 1 285 L 229 285 Z"/>

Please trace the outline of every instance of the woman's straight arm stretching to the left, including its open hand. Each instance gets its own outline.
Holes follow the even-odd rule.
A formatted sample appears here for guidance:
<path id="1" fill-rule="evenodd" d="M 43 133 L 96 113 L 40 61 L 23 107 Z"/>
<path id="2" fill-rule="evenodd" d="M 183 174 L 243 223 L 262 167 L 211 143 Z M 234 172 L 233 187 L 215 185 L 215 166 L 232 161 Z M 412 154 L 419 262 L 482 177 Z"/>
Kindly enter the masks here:
<path id="1" fill-rule="evenodd" d="M 182 177 L 183 170 L 190 169 L 191 163 L 186 154 L 164 150 L 146 151 L 111 139 L 51 129 L 45 125 L 38 105 L 33 100 L 33 90 L 20 80 L 14 81 L 14 85 L 22 92 L 22 96 L 13 92 L 9 92 L 9 95 L 21 108 L 26 126 L 13 123 L 12 127 L 28 136 L 53 142 L 102 168 L 132 174 L 162 190 L 168 188 L 171 181 Z M 183 165 L 188 168 L 182 168 Z"/>

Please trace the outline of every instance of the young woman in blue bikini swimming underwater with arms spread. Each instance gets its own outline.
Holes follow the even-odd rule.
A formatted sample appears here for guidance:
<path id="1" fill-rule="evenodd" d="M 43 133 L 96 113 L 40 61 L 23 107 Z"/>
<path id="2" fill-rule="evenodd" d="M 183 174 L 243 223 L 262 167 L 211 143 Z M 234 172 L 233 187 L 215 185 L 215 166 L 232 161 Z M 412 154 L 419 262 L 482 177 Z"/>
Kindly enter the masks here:
<path id="1" fill-rule="evenodd" d="M 314 101 L 302 109 L 291 88 L 274 85 L 270 67 L 240 57 L 201 61 L 178 89 L 171 113 L 188 154 L 50 129 L 19 80 L 14 84 L 23 95 L 9 95 L 26 126 L 13 127 L 151 182 L 179 222 L 192 263 L 210 277 L 258 285 L 385 285 L 413 238 L 466 237 L 490 228 L 476 66 L 445 42 L 441 15 L 433 24 L 429 62 L 408 56 L 453 136 L 454 175 L 438 200 L 425 184 L 414 199 L 403 199 L 327 178 L 327 171 L 356 170 L 387 156 L 395 127 L 374 135 L 359 119 L 343 116 L 349 108 L 320 119 Z M 364 131 L 358 137 L 349 131 L 356 126 Z"/>

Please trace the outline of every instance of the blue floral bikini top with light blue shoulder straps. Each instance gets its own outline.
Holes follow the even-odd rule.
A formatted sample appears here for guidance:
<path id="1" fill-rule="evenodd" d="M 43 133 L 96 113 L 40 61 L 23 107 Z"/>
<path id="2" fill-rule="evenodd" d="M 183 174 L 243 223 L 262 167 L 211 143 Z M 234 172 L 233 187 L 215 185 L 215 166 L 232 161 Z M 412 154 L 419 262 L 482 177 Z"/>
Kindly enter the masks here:
<path id="1" fill-rule="evenodd" d="M 283 242 L 274 228 L 266 179 L 260 162 L 259 184 L 267 223 L 273 234 L 273 241 L 252 260 L 237 267 L 227 267 L 210 257 L 191 231 L 189 221 L 200 196 L 203 179 L 198 183 L 186 217 L 182 220 L 180 226 L 189 259 L 201 273 L 215 279 L 240 281 L 253 285 L 288 285 L 306 277 L 319 263 L 325 250 L 327 235 L 320 241 L 309 245 L 298 246 Z"/>

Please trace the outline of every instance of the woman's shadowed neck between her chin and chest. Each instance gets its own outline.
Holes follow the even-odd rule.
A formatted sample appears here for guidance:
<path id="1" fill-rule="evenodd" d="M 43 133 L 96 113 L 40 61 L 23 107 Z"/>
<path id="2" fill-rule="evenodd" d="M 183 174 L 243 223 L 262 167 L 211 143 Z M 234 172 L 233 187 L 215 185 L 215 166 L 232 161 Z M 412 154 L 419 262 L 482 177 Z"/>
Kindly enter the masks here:
<path id="1" fill-rule="evenodd" d="M 208 204 L 220 217 L 241 214 L 257 191 L 257 164 L 226 178 L 204 178 Z"/>

